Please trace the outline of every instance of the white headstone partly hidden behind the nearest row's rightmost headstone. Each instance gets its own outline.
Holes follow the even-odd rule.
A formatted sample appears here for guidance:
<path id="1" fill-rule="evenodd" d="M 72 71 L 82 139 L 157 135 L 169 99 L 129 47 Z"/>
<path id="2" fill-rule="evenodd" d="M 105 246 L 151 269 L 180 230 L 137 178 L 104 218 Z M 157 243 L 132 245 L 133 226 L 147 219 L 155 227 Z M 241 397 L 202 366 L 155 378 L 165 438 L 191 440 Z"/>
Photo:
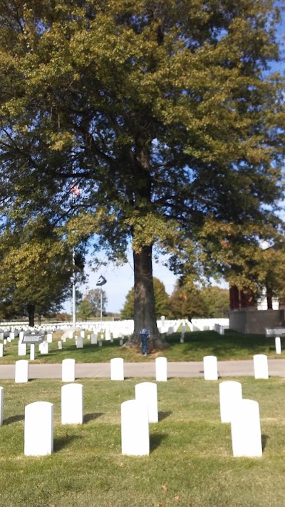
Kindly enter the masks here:
<path id="1" fill-rule="evenodd" d="M 219 384 L 219 409 L 221 421 L 232 421 L 232 412 L 236 404 L 242 399 L 242 384 L 233 380 L 227 380 Z"/>

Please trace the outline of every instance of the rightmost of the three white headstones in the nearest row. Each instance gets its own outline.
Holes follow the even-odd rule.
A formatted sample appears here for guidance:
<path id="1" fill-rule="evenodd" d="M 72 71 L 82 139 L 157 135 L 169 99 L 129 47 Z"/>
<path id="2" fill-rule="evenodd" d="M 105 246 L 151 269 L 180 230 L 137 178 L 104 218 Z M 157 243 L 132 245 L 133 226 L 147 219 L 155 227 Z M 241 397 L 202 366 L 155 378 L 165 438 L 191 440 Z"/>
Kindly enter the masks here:
<path id="1" fill-rule="evenodd" d="M 242 399 L 232 412 L 232 451 L 234 457 L 262 456 L 259 404 Z"/>

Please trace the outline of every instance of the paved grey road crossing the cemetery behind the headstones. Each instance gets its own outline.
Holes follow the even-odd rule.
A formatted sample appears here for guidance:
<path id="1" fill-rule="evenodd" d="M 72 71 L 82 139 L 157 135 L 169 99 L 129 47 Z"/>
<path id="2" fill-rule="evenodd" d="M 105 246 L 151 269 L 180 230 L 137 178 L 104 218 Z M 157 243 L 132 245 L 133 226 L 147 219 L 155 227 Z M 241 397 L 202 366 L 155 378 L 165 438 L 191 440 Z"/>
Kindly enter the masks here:
<path id="1" fill-rule="evenodd" d="M 285 359 L 269 359 L 269 376 L 285 377 Z M 253 377 L 253 361 L 220 361 L 218 362 L 219 377 Z M 155 362 L 125 363 L 125 377 L 155 378 Z M 168 362 L 167 376 L 171 377 L 203 377 L 202 362 Z M 61 379 L 61 364 L 28 365 L 29 379 Z M 76 364 L 76 378 L 110 377 L 110 363 Z M 14 364 L 0 365 L 0 379 L 14 379 Z"/>

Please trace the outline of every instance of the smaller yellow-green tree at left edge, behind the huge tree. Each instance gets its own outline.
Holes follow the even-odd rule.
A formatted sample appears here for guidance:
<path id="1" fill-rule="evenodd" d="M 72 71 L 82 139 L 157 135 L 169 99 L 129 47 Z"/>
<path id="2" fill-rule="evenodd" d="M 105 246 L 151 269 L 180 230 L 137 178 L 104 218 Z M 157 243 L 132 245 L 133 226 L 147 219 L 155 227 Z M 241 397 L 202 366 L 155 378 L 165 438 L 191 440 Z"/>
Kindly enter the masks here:
<path id="1" fill-rule="evenodd" d="M 0 235 L 0 313 L 3 318 L 38 317 L 58 312 L 71 297 L 76 270 L 82 278 L 82 255 L 59 237 L 46 216 L 6 222 Z"/>

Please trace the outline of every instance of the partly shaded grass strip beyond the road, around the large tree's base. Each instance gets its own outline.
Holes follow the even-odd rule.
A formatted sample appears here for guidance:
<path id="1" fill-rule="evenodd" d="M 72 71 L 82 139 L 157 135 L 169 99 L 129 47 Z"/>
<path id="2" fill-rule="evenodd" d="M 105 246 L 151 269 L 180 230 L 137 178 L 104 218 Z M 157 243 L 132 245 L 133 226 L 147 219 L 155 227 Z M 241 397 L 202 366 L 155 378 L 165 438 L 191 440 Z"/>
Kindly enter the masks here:
<path id="1" fill-rule="evenodd" d="M 214 331 L 187 332 L 185 342 L 180 343 L 180 333 L 167 337 L 168 347 L 149 356 L 141 356 L 138 350 L 120 347 L 118 340 L 103 342 L 103 347 L 91 345 L 90 340 L 84 339 L 84 348 L 76 349 L 75 339 L 67 339 L 63 343 L 63 350 L 58 350 L 58 339 L 61 334 L 55 334 L 50 344 L 49 354 L 41 355 L 36 345 L 35 363 L 60 363 L 63 359 L 76 359 L 78 363 L 109 362 L 113 357 L 123 357 L 125 362 L 155 361 L 158 356 L 167 357 L 168 361 L 202 361 L 204 356 L 217 356 L 219 361 L 231 359 L 252 359 L 254 354 L 266 354 L 267 357 L 280 358 L 275 352 L 274 338 L 267 338 L 259 334 L 241 334 L 226 332 L 224 335 Z M 18 357 L 18 339 L 5 346 L 4 357 L 0 364 L 14 364 Z M 26 356 L 28 359 L 28 356 Z"/>

